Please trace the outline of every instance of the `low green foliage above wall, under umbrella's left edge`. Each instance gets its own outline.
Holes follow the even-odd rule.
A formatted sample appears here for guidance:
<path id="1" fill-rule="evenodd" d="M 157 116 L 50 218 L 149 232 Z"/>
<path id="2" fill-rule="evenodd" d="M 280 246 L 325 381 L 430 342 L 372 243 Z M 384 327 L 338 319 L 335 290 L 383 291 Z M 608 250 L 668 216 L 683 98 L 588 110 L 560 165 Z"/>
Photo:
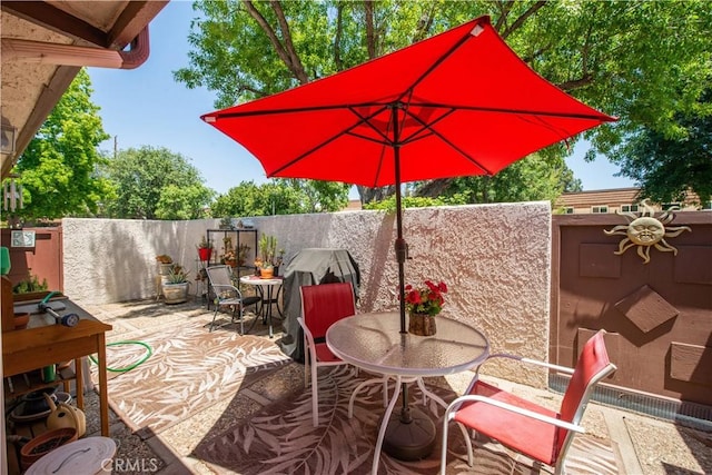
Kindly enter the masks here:
<path id="1" fill-rule="evenodd" d="M 211 206 L 216 217 L 330 212 L 348 202 L 348 186 L 332 181 L 275 179 L 264 185 L 243 181 L 218 196 Z"/>

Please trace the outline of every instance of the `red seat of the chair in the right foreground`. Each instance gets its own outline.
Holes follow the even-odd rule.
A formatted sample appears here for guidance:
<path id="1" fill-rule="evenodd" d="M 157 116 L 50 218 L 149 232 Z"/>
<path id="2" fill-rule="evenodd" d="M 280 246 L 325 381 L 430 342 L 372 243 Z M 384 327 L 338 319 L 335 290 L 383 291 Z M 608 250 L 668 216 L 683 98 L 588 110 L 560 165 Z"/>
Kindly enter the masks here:
<path id="1" fill-rule="evenodd" d="M 475 384 L 469 394 L 487 396 L 537 414 L 560 418 L 554 410 L 522 399 L 482 380 Z M 553 447 L 556 427 L 551 424 L 479 402 L 463 404 L 455 413 L 454 420 L 463 423 L 524 455 L 547 465 L 555 464 Z"/>

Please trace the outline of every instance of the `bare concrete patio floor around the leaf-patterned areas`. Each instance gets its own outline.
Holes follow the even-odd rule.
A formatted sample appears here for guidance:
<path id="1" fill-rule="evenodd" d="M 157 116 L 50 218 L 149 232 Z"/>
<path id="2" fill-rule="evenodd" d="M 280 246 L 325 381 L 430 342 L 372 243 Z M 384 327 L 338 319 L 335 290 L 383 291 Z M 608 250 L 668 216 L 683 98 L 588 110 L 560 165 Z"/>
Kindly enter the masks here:
<path id="1" fill-rule="evenodd" d="M 141 335 L 162 327 L 180 326 L 188 321 L 199 320 L 208 324 L 212 317 L 212 313 L 208 311 L 199 300 L 172 306 L 155 300 L 100 306 L 81 301 L 78 304 L 99 320 L 113 326 L 112 331 L 107 335 L 108 342 L 139 339 Z M 276 320 L 274 342 L 281 337 L 280 328 L 280 323 Z M 229 329 L 216 331 L 229 331 Z M 267 326 L 258 321 L 251 334 L 268 338 Z M 301 365 L 288 364 L 269 377 L 240 389 L 236 398 L 219 402 L 192 414 L 185 422 L 145 441 L 132 434 L 111 412 L 111 437 L 119 445 L 117 456 L 144 461 L 158 457 L 161 463 L 158 464 L 157 473 L 164 475 L 214 474 L 216 473 L 214 469 L 191 457 L 190 454 L 208 431 L 216 429 L 216 420 L 225 419 L 225 413 L 229 412 L 230 420 L 237 422 L 263 406 L 301 389 L 303 372 Z M 447 383 L 454 390 L 461 393 L 471 378 L 472 374 L 465 373 L 448 377 Z M 551 392 L 515 385 L 506 380 L 496 380 L 496 383 L 537 400 L 548 400 L 552 404 L 558 400 L 558 395 Z M 98 435 L 98 398 L 91 394 L 87 399 L 88 435 Z M 596 403 L 590 404 L 584 426 L 591 435 L 602 441 L 610 441 L 616 452 L 621 474 L 712 473 L 712 434 L 710 433 Z"/>

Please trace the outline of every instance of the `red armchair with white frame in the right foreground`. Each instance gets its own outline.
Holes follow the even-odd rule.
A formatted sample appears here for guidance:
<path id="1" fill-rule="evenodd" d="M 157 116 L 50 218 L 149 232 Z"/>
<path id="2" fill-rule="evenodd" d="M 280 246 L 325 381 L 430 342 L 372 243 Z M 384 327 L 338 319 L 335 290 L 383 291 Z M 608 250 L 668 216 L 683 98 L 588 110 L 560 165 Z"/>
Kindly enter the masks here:
<path id="1" fill-rule="evenodd" d="M 555 474 L 564 473 L 564 462 L 573 437 L 585 432 L 580 422 L 595 385 L 616 369 L 609 360 L 604 335 L 605 330 L 599 330 L 586 342 L 574 369 L 514 355 L 491 355 L 490 358 L 512 358 L 572 375 L 560 410 L 551 410 L 482 382 L 477 368 L 465 395 L 453 400 L 445 412 L 441 474 L 444 475 L 446 471 L 447 428 L 451 420 L 534 461 L 553 466 Z M 467 463 L 472 466 L 471 437 L 465 437 L 465 443 Z"/>

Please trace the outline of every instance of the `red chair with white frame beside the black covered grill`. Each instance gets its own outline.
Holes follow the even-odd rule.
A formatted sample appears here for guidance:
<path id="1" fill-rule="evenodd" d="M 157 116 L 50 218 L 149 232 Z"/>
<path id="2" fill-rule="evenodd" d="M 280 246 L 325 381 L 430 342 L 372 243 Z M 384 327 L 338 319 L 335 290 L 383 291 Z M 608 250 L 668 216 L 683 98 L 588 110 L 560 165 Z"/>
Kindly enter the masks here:
<path id="1" fill-rule="evenodd" d="M 352 283 L 334 283 L 299 287 L 301 298 L 301 316 L 297 321 L 304 330 L 304 384 L 312 379 L 312 417 L 314 427 L 319 425 L 319 388 L 317 369 L 322 366 L 347 365 L 332 353 L 326 345 L 326 330 L 342 318 L 356 314 L 354 287 Z M 366 383 L 382 383 L 387 390 L 387 379 L 369 379 L 358 385 L 356 394 Z M 384 405 L 386 396 L 384 393 Z M 352 403 L 353 405 L 353 398 Z M 350 409 L 349 405 L 349 409 Z M 350 416 L 350 414 L 349 414 Z"/>

